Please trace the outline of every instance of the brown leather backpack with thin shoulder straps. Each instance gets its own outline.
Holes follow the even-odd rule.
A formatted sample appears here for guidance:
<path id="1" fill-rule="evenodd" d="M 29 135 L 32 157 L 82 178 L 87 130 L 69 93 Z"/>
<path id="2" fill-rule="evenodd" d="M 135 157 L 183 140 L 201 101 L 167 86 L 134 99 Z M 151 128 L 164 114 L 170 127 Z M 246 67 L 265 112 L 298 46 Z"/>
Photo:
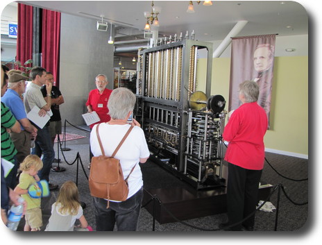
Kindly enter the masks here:
<path id="1" fill-rule="evenodd" d="M 108 199 L 108 205 L 106 208 L 110 208 L 110 200 L 114 201 L 126 201 L 128 198 L 128 177 L 132 174 L 133 169 L 128 174 L 128 177 L 124 180 L 123 171 L 119 160 L 114 158 L 117 151 L 123 144 L 128 134 L 133 129 L 130 126 L 126 135 L 115 149 L 112 156 L 105 155 L 101 139 L 99 137 L 99 124 L 96 126 L 96 135 L 99 140 L 99 146 L 101 147 L 102 155 L 93 157 L 90 168 L 90 193 L 91 196 Z"/>

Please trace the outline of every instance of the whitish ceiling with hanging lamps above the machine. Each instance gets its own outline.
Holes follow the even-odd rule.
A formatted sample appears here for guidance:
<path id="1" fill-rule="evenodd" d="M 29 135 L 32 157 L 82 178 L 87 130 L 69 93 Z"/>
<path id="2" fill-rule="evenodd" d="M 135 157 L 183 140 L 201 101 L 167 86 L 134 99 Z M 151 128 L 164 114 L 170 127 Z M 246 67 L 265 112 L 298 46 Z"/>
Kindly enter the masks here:
<path id="1" fill-rule="evenodd" d="M 151 1 L 22 2 L 97 20 L 103 15 L 105 22 L 134 28 L 133 32 L 142 33 L 146 23 L 144 11 L 151 10 Z M 194 13 L 186 12 L 189 1 L 154 3 L 162 8 L 159 34 L 167 36 L 180 35 L 180 32 L 184 36 L 186 31 L 191 33 L 194 30 L 196 40 L 223 40 L 239 20 L 248 21 L 239 36 L 273 33 L 279 36 L 307 35 L 309 30 L 307 12 L 295 1 L 212 1 L 212 6 L 203 6 L 203 1 L 198 5 L 193 1 Z"/>

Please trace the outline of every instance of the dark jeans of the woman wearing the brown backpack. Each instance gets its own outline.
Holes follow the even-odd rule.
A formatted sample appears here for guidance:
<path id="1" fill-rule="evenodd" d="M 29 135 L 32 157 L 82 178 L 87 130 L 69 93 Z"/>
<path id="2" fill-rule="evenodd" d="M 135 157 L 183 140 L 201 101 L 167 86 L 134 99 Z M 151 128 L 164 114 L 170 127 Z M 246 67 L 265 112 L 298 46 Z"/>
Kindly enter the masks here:
<path id="1" fill-rule="evenodd" d="M 118 231 L 135 231 L 139 222 L 139 212 L 143 198 L 143 187 L 126 201 L 120 203 L 94 197 L 95 219 L 97 231 L 112 231 L 117 223 Z"/>

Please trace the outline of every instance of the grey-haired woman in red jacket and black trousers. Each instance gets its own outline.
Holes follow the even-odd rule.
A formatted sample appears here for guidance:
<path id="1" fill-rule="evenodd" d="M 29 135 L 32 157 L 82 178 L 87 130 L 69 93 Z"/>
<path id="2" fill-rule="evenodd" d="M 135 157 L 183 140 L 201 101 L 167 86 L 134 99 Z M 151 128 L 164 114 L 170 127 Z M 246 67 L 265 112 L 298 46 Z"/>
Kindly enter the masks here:
<path id="1" fill-rule="evenodd" d="M 260 94 L 257 83 L 244 81 L 239 85 L 242 105 L 232 113 L 223 130 L 223 140 L 229 142 L 225 160 L 228 162 L 227 205 L 228 223 L 242 221 L 255 212 L 258 185 L 264 167 L 264 135 L 268 127 L 266 113 L 257 99 Z M 253 230 L 255 213 L 230 230 Z"/>

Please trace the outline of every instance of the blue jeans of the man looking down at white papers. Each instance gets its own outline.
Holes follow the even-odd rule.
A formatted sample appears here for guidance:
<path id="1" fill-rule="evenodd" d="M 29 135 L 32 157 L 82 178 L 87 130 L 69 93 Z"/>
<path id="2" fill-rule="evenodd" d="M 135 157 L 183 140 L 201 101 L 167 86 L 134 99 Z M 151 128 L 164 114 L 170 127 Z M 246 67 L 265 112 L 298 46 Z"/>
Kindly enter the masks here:
<path id="1" fill-rule="evenodd" d="M 44 167 L 42 167 L 38 176 L 41 180 L 47 180 L 49 182 L 49 174 L 51 171 L 51 165 L 53 164 L 53 159 L 55 158 L 55 151 L 53 151 L 53 144 L 51 143 L 49 126 L 44 126 L 44 128 L 37 127 L 37 130 L 35 148 L 32 153 L 40 158 L 42 157 L 42 154 L 44 154 L 44 157 L 42 158 Z"/>

